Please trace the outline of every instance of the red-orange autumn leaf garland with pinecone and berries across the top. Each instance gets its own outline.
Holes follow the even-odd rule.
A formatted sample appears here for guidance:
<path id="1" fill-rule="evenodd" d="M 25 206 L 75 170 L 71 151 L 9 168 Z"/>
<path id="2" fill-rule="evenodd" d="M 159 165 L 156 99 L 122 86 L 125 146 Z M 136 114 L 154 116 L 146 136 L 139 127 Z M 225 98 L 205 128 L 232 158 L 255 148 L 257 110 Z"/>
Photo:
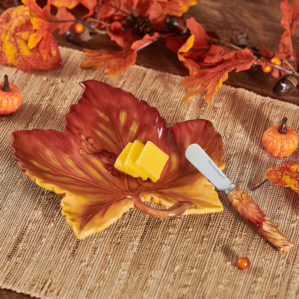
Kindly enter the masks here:
<path id="1" fill-rule="evenodd" d="M 81 67 L 106 67 L 110 76 L 135 64 L 139 49 L 163 39 L 189 70 L 189 76 L 182 84 L 193 90 L 187 92 L 182 100 L 205 92 L 204 100 L 209 103 L 228 79 L 229 72 L 247 70 L 252 65 L 270 66 L 268 70 L 275 78 L 288 74 L 298 80 L 296 59 L 299 52 L 294 52 L 292 36 L 299 22 L 299 0 L 292 1 L 291 7 L 288 0 L 280 3 L 281 25 L 285 31 L 276 52 L 265 45 L 260 49 L 248 47 L 247 35 L 233 36 L 222 42 L 193 18 L 186 20 L 184 28 L 174 28 L 177 18 L 198 0 L 48 0 L 44 7 L 35 0 L 22 2 L 26 6 L 11 8 L 0 19 L 0 63 L 12 64 L 22 70 L 58 66 L 60 56 L 52 33 L 59 30 L 59 34 L 65 34 L 75 22 L 80 22 L 84 25 L 82 36 L 86 32 L 97 34 L 104 31 L 122 48 L 117 52 L 85 49 L 87 58 Z M 86 9 L 83 16 L 73 14 L 73 8 L 78 4 Z M 173 24 L 171 18 L 174 18 Z M 169 20 L 171 27 L 168 26 Z M 21 33 L 16 28 L 21 28 Z M 40 63 L 41 57 L 43 63 Z M 272 63 L 272 57 L 281 60 L 281 64 Z M 287 91 L 279 91 L 279 95 L 292 89 L 293 83 Z"/>

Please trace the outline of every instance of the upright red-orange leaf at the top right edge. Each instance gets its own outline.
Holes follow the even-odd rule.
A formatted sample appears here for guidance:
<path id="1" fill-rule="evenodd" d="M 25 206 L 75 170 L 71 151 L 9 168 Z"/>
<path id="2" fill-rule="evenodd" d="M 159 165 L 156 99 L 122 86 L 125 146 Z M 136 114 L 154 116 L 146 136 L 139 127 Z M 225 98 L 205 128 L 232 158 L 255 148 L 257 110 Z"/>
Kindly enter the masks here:
<path id="1" fill-rule="evenodd" d="M 285 28 L 285 31 L 281 36 L 278 52 L 292 56 L 294 49 L 291 36 L 294 35 L 296 25 L 299 23 L 299 2 L 294 0 L 290 10 L 288 0 L 283 0 L 280 3 L 280 9 L 283 12 L 280 23 Z"/>

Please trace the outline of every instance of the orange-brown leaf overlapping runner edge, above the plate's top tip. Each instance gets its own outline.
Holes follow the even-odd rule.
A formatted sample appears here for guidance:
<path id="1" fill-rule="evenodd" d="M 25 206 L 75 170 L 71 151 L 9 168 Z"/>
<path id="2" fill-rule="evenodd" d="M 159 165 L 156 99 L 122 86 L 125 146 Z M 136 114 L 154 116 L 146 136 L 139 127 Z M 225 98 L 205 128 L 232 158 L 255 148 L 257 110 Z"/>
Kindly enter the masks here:
<path id="1" fill-rule="evenodd" d="M 112 52 L 108 50 L 90 50 L 84 49 L 88 55 L 87 59 L 82 62 L 81 68 L 104 68 L 109 76 L 120 74 L 130 65 L 135 64 L 137 53 L 131 48 L 124 48 L 120 52 Z"/>

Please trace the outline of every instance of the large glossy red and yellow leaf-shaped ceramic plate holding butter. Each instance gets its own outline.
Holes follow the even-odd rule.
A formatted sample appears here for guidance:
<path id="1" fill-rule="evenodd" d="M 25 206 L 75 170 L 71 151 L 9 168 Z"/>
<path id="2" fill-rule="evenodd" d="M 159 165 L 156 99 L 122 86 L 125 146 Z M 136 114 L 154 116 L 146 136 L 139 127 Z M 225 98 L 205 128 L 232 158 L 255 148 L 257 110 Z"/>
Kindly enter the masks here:
<path id="1" fill-rule="evenodd" d="M 157 109 L 122 89 L 94 80 L 80 85 L 84 92 L 65 116 L 63 132 L 11 133 L 20 169 L 63 197 L 62 214 L 77 238 L 103 230 L 132 207 L 156 217 L 223 210 L 214 186 L 184 154 L 190 144 L 198 143 L 224 167 L 222 139 L 210 121 L 188 120 L 167 128 Z M 169 155 L 156 183 L 124 173 L 113 176 L 111 165 L 134 140 L 150 140 Z M 149 207 L 146 201 L 165 209 Z"/>

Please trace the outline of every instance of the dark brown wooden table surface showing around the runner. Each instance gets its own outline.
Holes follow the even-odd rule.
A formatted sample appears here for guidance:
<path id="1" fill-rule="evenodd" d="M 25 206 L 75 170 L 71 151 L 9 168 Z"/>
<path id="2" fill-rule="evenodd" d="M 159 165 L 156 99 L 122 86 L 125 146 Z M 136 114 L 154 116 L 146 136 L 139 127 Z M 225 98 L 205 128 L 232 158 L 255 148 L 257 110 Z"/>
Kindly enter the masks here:
<path id="1" fill-rule="evenodd" d="M 3 4 L 0 13 L 7 8 L 7 5 L 13 3 L 13 1 L 4 2 L 4 0 L 0 0 L 0 4 Z M 193 16 L 201 23 L 205 30 L 215 31 L 220 39 L 227 40 L 232 34 L 244 32 L 250 35 L 250 46 L 259 48 L 264 44 L 273 52 L 277 51 L 280 36 L 284 31 L 280 25 L 282 17 L 280 1 L 277 0 L 200 0 L 196 6 L 191 7 L 184 15 L 185 18 L 190 16 Z M 298 32 L 299 29 L 293 37 L 295 52 L 299 51 Z M 107 35 L 100 35 L 91 42 L 81 42 L 80 44 L 67 42 L 63 36 L 59 36 L 57 33 L 54 35 L 59 45 L 79 50 L 83 48 L 117 49 Z M 168 50 L 162 41 L 157 41 L 139 51 L 136 64 L 181 76 L 188 75 L 187 69 L 179 62 L 176 54 Z M 242 87 L 257 94 L 275 98 L 272 89 L 276 81 L 270 74 L 265 74 L 259 67 L 254 67 L 238 74 L 235 72 L 229 73 L 225 84 Z M 281 97 L 280 100 L 299 105 L 299 88 L 294 88 L 285 97 Z M 0 289 L 0 298 L 28 299 L 32 297 L 11 290 Z"/>

